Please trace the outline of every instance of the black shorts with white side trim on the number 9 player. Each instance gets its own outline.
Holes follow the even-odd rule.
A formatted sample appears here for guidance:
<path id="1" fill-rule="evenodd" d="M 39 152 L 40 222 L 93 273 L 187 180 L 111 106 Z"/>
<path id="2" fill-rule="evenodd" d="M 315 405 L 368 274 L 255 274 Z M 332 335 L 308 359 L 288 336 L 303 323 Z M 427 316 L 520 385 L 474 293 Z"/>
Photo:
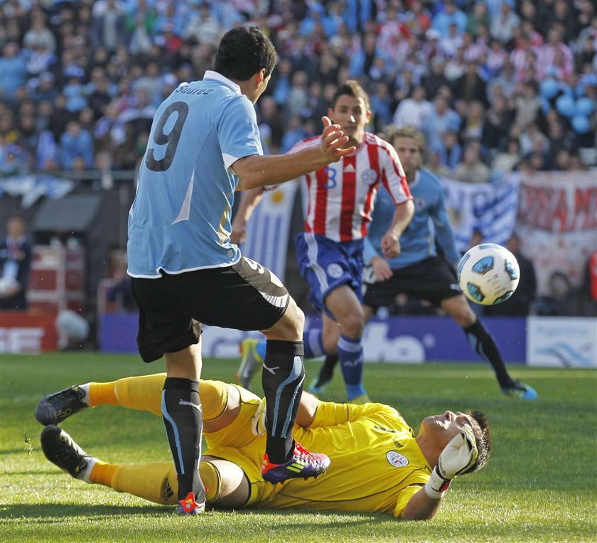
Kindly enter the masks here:
<path id="1" fill-rule="evenodd" d="M 244 257 L 230 267 L 162 273 L 159 279 L 133 277 L 132 286 L 139 304 L 137 345 L 145 362 L 198 343 L 200 323 L 267 330 L 290 301 L 269 269 Z"/>

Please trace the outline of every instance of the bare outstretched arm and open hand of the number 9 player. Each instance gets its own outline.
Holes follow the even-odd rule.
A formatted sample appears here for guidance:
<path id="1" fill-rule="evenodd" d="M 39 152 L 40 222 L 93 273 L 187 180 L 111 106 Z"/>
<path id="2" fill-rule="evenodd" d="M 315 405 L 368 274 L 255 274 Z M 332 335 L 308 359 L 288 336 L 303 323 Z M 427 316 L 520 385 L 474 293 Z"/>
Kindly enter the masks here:
<path id="1" fill-rule="evenodd" d="M 232 170 L 239 178 L 238 190 L 249 190 L 267 185 L 291 181 L 338 162 L 345 155 L 354 153 L 355 147 L 344 147 L 348 136 L 338 124 L 332 124 L 328 117 L 322 117 L 323 132 L 321 145 L 303 149 L 292 154 L 240 158 L 232 164 Z"/>

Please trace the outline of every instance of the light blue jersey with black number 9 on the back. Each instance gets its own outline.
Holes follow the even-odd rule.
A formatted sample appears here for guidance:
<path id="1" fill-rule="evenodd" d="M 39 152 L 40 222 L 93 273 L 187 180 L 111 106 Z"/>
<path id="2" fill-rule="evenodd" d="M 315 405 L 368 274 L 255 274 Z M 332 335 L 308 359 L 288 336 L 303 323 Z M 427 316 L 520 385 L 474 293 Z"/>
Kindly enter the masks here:
<path id="1" fill-rule="evenodd" d="M 156 278 L 240 259 L 230 212 L 244 156 L 263 154 L 253 104 L 217 72 L 158 107 L 129 212 L 129 275 Z"/>

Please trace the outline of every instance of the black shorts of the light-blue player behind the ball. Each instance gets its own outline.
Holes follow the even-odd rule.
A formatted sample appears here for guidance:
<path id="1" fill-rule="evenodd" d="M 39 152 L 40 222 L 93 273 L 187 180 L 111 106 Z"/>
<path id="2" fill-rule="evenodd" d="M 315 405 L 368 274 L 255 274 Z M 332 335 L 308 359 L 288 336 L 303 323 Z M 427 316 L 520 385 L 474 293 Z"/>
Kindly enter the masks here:
<path id="1" fill-rule="evenodd" d="M 363 304 L 377 309 L 392 304 L 397 294 L 407 294 L 441 306 L 447 298 L 462 294 L 456 271 L 439 257 L 429 257 L 405 268 L 392 269 L 386 281 L 371 282 L 372 270 L 365 269 Z"/>

